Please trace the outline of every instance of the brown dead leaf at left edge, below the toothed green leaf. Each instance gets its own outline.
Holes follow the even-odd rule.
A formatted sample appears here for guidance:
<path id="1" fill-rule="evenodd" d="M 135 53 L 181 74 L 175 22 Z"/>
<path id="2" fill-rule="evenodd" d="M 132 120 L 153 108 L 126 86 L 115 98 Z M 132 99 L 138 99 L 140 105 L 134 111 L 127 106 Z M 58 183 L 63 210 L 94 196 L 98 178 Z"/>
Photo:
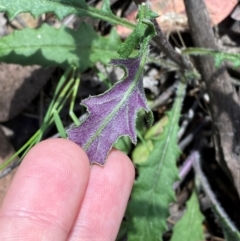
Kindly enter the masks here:
<path id="1" fill-rule="evenodd" d="M 18 115 L 37 96 L 53 68 L 0 64 L 0 121 Z"/>

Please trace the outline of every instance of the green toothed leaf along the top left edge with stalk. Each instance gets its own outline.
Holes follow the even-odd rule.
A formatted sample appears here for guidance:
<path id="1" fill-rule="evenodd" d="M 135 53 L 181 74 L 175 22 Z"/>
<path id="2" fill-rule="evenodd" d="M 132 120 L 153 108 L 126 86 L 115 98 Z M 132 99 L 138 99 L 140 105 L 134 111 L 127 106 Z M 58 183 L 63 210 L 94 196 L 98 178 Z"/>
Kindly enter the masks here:
<path id="1" fill-rule="evenodd" d="M 134 28 L 134 24 L 115 16 L 110 11 L 110 8 L 97 9 L 88 6 L 84 0 L 18 0 L 17 2 L 1 0 L 0 12 L 6 12 L 10 19 L 16 17 L 19 13 L 26 12 L 31 13 L 35 18 L 43 13 L 52 12 L 59 19 L 69 14 L 75 14 L 79 17 L 89 16 L 105 20 L 114 25 L 119 24 L 128 28 Z"/>

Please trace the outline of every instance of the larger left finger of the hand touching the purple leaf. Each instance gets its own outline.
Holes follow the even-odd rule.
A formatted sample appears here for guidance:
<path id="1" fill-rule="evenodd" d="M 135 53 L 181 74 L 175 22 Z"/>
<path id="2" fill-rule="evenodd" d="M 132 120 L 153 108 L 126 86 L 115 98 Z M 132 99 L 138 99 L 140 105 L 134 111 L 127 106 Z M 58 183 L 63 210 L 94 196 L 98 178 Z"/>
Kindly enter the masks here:
<path id="1" fill-rule="evenodd" d="M 0 209 L 0 240 L 66 240 L 89 173 L 85 152 L 69 140 L 33 147 Z"/>

